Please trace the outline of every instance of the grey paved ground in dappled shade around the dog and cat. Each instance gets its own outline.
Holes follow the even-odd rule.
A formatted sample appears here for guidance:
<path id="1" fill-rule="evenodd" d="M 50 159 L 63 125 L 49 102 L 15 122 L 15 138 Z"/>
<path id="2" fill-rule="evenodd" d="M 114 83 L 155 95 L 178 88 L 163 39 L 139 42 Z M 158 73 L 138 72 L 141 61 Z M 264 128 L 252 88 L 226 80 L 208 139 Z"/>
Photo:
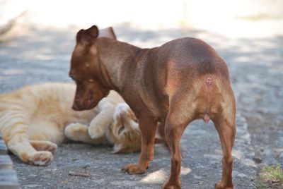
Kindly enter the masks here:
<path id="1" fill-rule="evenodd" d="M 178 37 L 209 43 L 229 65 L 237 101 L 237 135 L 233 148 L 235 188 L 255 188 L 260 164 L 283 166 L 283 35 L 229 39 L 203 30 L 114 28 L 118 39 L 139 47 L 156 47 Z M 71 82 L 69 60 L 76 30 L 38 30 L 0 42 L 0 92 L 49 81 Z M 221 178 L 221 147 L 212 123 L 195 121 L 181 140 L 183 188 L 214 188 Z M 110 146 L 67 142 L 50 166 L 23 164 L 11 158 L 21 188 L 161 188 L 168 178 L 170 153 L 156 145 L 148 173 L 129 176 L 120 169 L 139 154 L 110 154 Z M 72 173 L 85 176 L 72 176 Z"/>

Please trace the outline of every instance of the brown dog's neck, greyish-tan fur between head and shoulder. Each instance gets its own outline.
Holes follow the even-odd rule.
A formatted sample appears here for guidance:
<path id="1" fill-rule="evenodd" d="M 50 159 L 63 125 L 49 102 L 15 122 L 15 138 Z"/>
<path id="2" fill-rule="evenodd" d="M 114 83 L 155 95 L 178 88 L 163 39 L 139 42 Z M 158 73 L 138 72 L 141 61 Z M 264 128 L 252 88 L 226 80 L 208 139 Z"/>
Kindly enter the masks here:
<path id="1" fill-rule="evenodd" d="M 112 90 L 121 91 L 125 78 L 122 70 L 134 63 L 133 60 L 142 49 L 105 37 L 98 38 L 98 48 L 99 58 L 108 72 Z"/>

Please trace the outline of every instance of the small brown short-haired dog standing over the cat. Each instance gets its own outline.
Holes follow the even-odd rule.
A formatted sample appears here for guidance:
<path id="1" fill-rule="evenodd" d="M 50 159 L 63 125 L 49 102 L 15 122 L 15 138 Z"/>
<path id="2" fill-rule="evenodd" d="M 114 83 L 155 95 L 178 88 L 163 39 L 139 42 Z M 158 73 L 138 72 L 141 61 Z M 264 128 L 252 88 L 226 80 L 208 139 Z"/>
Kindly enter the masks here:
<path id="1" fill-rule="evenodd" d="M 93 25 L 76 35 L 70 77 L 76 82 L 73 109 L 92 109 L 110 90 L 125 99 L 139 119 L 142 135 L 137 164 L 122 171 L 145 173 L 154 158 L 156 123 L 165 122 L 171 149 L 171 175 L 163 188 L 180 188 L 180 138 L 191 121 L 212 119 L 223 151 L 222 179 L 216 188 L 233 188 L 231 150 L 236 134 L 236 103 L 226 63 L 200 39 L 175 39 L 140 49 L 98 37 Z"/>

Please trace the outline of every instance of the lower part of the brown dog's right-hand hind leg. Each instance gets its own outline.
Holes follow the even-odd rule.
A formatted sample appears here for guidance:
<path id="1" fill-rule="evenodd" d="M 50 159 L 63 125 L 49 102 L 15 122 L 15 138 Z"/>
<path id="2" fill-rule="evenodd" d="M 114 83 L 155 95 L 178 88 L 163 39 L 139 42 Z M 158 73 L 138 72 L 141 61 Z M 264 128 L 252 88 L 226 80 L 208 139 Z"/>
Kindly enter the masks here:
<path id="1" fill-rule="evenodd" d="M 235 118 L 231 121 L 227 121 L 223 118 L 215 118 L 214 124 L 218 131 L 219 138 L 221 141 L 222 148 L 222 179 L 215 184 L 216 189 L 231 189 L 233 188 L 232 181 L 232 169 L 233 169 L 233 158 L 232 158 L 232 147 L 236 135 L 236 123 Z"/>

